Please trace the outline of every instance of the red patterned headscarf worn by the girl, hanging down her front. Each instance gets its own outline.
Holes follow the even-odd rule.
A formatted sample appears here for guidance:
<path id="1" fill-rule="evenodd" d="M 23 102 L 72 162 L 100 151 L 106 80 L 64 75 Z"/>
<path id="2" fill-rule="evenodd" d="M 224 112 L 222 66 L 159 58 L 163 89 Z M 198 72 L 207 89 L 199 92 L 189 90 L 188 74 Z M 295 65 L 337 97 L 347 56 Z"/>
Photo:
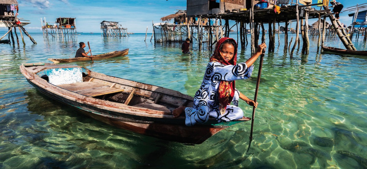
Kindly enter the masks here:
<path id="1" fill-rule="evenodd" d="M 223 58 L 222 51 L 219 48 L 221 44 L 227 39 L 232 39 L 232 38 L 224 37 L 224 38 L 219 39 L 217 45 L 215 45 L 215 51 L 214 51 L 214 54 L 210 58 L 210 62 L 219 62 L 224 65 L 236 65 L 237 47 L 235 47 L 235 53 L 233 54 L 232 60 L 228 62 Z M 236 43 L 234 39 L 232 40 Z M 236 46 L 237 46 L 237 43 L 236 43 Z M 233 96 L 235 96 L 235 81 L 230 82 L 230 81 L 222 80 L 219 83 L 219 88 L 218 88 L 219 110 L 221 114 L 224 114 L 224 112 L 226 111 L 227 105 L 230 104 L 230 102 L 233 99 Z"/>

